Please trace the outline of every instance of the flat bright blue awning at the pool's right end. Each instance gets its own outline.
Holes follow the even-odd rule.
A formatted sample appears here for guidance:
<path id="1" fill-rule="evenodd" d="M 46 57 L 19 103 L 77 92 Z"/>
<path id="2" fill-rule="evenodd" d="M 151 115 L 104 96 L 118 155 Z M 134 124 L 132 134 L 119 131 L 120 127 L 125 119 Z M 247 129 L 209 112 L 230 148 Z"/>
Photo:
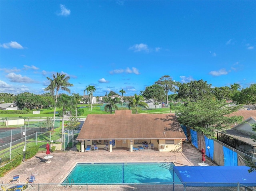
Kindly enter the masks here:
<path id="1" fill-rule="evenodd" d="M 238 182 L 256 186 L 256 171 L 249 173 L 247 166 L 174 166 L 173 169 L 186 186 L 235 187 Z"/>

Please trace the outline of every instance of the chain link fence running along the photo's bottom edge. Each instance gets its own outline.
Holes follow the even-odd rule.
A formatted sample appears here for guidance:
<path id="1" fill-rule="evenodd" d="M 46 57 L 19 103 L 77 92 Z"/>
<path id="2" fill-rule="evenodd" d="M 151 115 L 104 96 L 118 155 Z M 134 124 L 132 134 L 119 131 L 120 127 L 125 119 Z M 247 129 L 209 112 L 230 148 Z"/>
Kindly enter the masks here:
<path id="1" fill-rule="evenodd" d="M 21 183 L 22 184 L 22 183 Z M 256 191 L 254 187 L 248 187 L 235 183 L 234 185 L 223 183 L 196 183 L 196 186 L 188 182 L 170 183 L 122 183 L 122 184 L 22 184 L 26 191 Z M 14 191 L 16 185 L 2 185 L 3 190 Z"/>

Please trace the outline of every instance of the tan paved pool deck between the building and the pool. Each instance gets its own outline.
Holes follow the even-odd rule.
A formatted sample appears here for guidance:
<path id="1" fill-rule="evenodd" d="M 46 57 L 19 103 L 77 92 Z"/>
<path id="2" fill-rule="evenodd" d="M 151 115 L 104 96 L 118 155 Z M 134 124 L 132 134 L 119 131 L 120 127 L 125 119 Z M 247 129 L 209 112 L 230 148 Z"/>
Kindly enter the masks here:
<path id="1" fill-rule="evenodd" d="M 68 175 L 72 167 L 78 162 L 164 162 L 164 159 L 170 159 L 175 165 L 199 166 L 201 163 L 201 152 L 192 144 L 184 142 L 182 152 L 159 152 L 157 150 L 146 150 L 139 152 L 129 152 L 128 150 L 118 149 L 109 152 L 106 150 L 98 150 L 91 152 L 76 152 L 69 150 L 67 152 L 54 152 L 50 163 L 45 163 L 45 152 L 38 152 L 36 156 L 22 162 L 18 167 L 9 171 L 0 177 L 3 184 L 12 184 L 10 180 L 16 174 L 20 175 L 20 183 L 26 183 L 31 174 L 36 174 L 35 184 L 38 183 L 61 183 Z M 167 160 L 168 161 L 168 160 Z M 206 161 L 210 166 L 216 165 L 213 161 L 206 157 Z M 14 181 L 14 184 L 18 183 Z"/>

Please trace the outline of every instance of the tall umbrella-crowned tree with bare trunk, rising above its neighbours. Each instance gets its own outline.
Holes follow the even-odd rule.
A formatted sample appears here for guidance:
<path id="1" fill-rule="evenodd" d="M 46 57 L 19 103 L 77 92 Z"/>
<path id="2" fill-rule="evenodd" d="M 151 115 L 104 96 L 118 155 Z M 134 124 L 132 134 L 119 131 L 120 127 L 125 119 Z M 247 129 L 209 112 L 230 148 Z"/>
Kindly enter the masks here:
<path id="1" fill-rule="evenodd" d="M 175 91 L 175 82 L 172 80 L 172 78 L 169 75 L 164 75 L 160 77 L 158 81 L 155 82 L 155 84 L 160 85 L 164 88 L 164 91 L 166 93 L 166 106 L 168 107 L 168 92 L 174 92 Z"/>

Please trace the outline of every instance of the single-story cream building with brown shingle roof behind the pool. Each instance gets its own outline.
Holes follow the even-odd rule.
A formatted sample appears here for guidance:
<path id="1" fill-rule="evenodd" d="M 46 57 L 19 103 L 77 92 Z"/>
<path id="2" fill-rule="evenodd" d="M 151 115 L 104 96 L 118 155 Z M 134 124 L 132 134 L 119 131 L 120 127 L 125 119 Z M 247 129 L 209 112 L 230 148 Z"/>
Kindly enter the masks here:
<path id="1" fill-rule="evenodd" d="M 181 152 L 186 136 L 174 114 L 132 114 L 132 110 L 116 110 L 114 114 L 88 114 L 76 140 L 81 150 L 97 144 L 109 151 L 132 148 L 143 143 L 154 144 L 160 152 Z"/>

